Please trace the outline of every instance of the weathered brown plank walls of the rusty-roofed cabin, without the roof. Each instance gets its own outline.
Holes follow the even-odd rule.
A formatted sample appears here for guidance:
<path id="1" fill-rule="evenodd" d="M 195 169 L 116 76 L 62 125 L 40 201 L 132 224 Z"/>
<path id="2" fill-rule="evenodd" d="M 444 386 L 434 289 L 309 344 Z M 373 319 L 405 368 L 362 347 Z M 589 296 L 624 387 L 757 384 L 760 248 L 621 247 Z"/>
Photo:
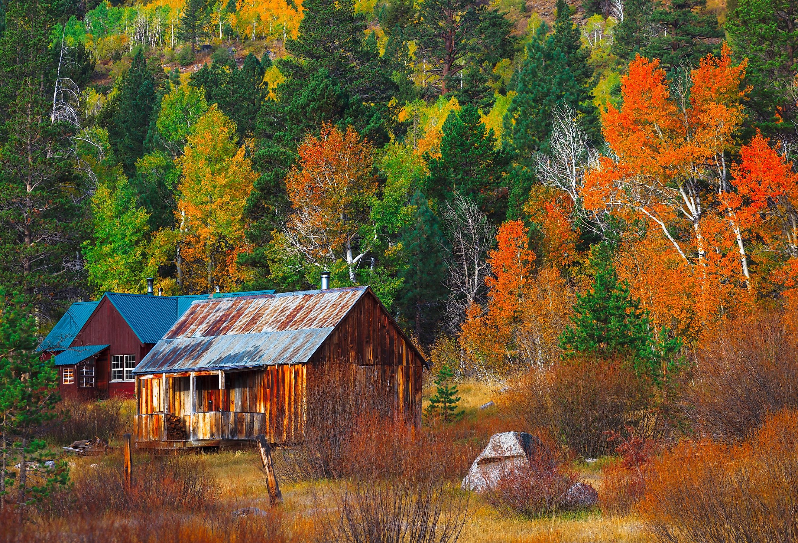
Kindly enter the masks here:
<path id="1" fill-rule="evenodd" d="M 387 393 L 396 412 L 409 423 L 421 425 L 423 361 L 370 291 L 307 364 L 227 371 L 221 390 L 218 371 L 195 372 L 195 413 L 191 412 L 190 374 L 168 375 L 168 411 L 184 417 L 191 440 L 251 439 L 262 432 L 271 442 L 301 442 L 307 389 L 314 375 L 330 364 L 347 368 L 358 386 Z M 160 382 L 156 384 L 161 376 L 153 377 L 139 379 L 139 414 L 163 409 L 164 392 Z M 152 434 L 151 423 L 147 425 L 142 426 L 146 435 L 137 435 L 139 440 Z"/>

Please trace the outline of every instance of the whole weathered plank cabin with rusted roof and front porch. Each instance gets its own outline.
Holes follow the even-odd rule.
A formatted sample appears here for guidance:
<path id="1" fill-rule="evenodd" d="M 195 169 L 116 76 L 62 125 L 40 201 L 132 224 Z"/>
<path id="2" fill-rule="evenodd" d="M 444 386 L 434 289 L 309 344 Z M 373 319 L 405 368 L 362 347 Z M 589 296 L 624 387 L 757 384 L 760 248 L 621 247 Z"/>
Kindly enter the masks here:
<path id="1" fill-rule="evenodd" d="M 196 301 L 133 371 L 136 447 L 301 442 L 308 386 L 333 364 L 421 425 L 426 363 L 369 287 Z"/>

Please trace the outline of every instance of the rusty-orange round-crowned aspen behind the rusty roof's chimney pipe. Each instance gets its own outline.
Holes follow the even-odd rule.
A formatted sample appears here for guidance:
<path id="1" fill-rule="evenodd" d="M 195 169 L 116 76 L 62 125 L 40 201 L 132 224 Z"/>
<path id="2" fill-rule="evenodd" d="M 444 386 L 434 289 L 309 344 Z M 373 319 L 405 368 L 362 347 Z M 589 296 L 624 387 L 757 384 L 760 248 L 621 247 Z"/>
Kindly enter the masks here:
<path id="1" fill-rule="evenodd" d="M 343 260 L 350 281 L 377 242 L 371 206 L 377 195 L 374 150 L 351 126 L 322 126 L 306 137 L 286 176 L 293 211 L 283 234 L 286 249 L 308 264 L 330 268 Z"/>

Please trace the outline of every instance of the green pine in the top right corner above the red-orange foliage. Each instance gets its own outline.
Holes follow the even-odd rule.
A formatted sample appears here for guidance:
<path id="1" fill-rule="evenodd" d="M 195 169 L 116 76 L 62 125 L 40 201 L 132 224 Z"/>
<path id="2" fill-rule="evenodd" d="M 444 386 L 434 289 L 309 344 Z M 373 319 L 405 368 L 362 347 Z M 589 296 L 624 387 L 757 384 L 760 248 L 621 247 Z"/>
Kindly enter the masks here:
<path id="1" fill-rule="evenodd" d="M 749 131 L 771 136 L 792 132 L 796 121 L 792 98 L 798 71 L 798 13 L 796 0 L 739 0 L 729 5 L 725 30 L 737 60 L 748 59 L 745 69 Z M 776 113 L 780 117 L 776 117 Z M 793 122 L 790 122 L 793 121 Z M 748 139 L 748 138 L 746 138 Z"/>

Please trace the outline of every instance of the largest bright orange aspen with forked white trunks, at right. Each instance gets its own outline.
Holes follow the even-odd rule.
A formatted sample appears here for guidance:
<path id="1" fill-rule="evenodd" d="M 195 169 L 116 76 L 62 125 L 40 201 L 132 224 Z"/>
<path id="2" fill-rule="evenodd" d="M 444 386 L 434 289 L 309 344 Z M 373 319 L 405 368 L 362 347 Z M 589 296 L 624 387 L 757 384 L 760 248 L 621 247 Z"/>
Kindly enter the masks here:
<path id="1" fill-rule="evenodd" d="M 623 78 L 623 105 L 608 104 L 603 133 L 614 157 L 602 157 L 583 188 L 587 208 L 644 216 L 659 228 L 685 264 L 698 264 L 707 278 L 710 244 L 702 220 L 713 212 L 714 193 L 728 192 L 725 153 L 743 120 L 741 80 L 745 63 L 733 66 L 724 47 L 720 58 L 706 57 L 671 96 L 659 61 L 638 57 Z M 724 196 L 725 197 L 725 196 Z M 733 213 L 729 220 L 734 222 Z M 686 223 L 689 241 L 672 232 Z M 741 238 L 740 238 L 741 240 Z M 742 242 L 742 240 L 741 240 Z M 745 248 L 741 272 L 748 277 Z"/>

